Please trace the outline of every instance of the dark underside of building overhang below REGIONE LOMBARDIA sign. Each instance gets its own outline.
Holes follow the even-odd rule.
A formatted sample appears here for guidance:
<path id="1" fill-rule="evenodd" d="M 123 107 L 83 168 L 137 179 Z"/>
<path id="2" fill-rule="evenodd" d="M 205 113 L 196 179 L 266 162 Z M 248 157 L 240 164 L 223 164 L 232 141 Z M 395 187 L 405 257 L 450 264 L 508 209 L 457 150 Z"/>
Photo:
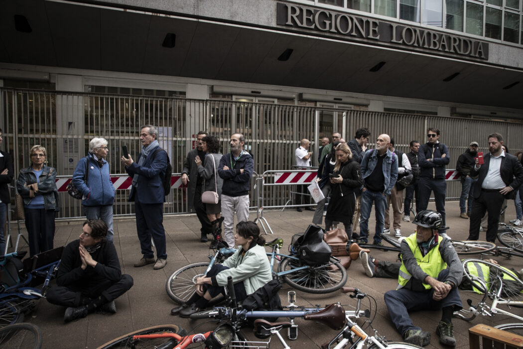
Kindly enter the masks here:
<path id="1" fill-rule="evenodd" d="M 523 109 L 523 72 L 506 66 L 276 27 L 77 2 L 4 0 L 0 7 L 0 62 L 5 63 Z M 27 19 L 30 32 L 15 28 L 15 15 Z M 174 47 L 162 46 L 168 33 L 174 37 L 167 46 Z M 290 57 L 278 60 L 288 49 Z M 385 62 L 381 69 L 371 71 L 380 62 Z M 504 89 L 516 82 L 521 83 Z"/>

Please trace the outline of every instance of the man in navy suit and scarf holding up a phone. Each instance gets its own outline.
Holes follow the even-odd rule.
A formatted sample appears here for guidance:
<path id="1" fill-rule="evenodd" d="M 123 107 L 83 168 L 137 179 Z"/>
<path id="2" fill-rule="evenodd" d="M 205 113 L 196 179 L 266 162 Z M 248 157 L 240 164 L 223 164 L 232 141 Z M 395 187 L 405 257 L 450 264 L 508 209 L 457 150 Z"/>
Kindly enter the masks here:
<path id="1" fill-rule="evenodd" d="M 152 125 L 142 126 L 140 141 L 143 148 L 138 155 L 138 163 L 122 156 L 126 171 L 132 180 L 129 201 L 134 201 L 136 229 L 143 257 L 135 267 L 154 263 L 154 269 L 161 269 L 167 264 L 165 230 L 163 227 L 163 203 L 165 201 L 162 175 L 167 170 L 167 152 L 156 150 L 158 130 Z M 156 257 L 151 245 L 151 237 L 156 246 Z"/>

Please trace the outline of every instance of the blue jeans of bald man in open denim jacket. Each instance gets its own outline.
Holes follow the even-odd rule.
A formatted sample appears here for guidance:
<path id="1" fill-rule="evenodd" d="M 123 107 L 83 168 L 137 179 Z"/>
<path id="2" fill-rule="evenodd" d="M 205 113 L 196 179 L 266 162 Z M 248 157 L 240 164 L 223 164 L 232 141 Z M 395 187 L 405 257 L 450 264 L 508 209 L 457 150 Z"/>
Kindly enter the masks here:
<path id="1" fill-rule="evenodd" d="M 367 237 L 369 235 L 369 217 L 373 202 L 374 210 L 376 211 L 376 232 L 374 233 L 374 243 L 381 242 L 381 233 L 385 226 L 387 197 L 380 192 L 371 192 L 369 189 L 365 190 L 365 192 L 361 193 L 360 208 L 360 241 L 365 243 L 367 243 Z"/>

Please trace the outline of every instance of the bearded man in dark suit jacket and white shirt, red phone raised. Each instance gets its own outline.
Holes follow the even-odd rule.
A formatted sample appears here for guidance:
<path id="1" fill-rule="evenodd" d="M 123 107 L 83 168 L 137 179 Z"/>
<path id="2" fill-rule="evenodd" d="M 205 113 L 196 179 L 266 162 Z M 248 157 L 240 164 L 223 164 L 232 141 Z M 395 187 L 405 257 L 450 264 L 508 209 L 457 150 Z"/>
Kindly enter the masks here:
<path id="1" fill-rule="evenodd" d="M 512 199 L 516 190 L 523 183 L 523 167 L 514 155 L 502 149 L 503 137 L 499 133 L 488 136 L 490 154 L 484 156 L 484 164 L 476 164 L 470 171 L 471 176 L 479 175 L 474 186 L 474 201 L 470 215 L 469 237 L 477 240 L 480 235 L 481 218 L 488 212 L 486 240 L 496 241 L 499 210 L 505 198 Z"/>

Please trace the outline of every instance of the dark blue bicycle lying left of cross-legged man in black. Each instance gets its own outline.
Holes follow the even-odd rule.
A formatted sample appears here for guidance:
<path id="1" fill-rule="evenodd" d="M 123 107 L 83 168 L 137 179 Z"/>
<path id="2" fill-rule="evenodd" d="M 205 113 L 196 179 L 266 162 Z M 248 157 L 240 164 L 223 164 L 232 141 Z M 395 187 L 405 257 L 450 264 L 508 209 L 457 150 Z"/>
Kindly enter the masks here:
<path id="1" fill-rule="evenodd" d="M 0 283 L 0 328 L 24 321 L 24 314 L 34 307 L 33 301 L 46 296 L 49 282 L 56 276 L 63 247 L 19 261 L 26 252 L 14 252 L 0 257 L 2 283 Z M 23 268 L 13 270 L 8 266 L 16 258 Z M 50 262 L 53 261 L 53 262 Z M 36 286 L 41 285 L 40 288 Z"/>

